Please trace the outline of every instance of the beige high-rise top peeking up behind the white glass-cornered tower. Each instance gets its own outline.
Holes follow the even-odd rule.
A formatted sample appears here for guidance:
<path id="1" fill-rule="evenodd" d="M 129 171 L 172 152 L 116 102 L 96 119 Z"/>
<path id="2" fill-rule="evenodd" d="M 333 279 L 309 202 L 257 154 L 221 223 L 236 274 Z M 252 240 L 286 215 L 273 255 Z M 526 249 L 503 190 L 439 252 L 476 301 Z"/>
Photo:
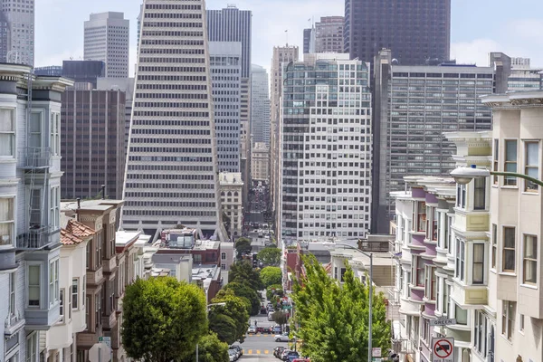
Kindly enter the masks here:
<path id="1" fill-rule="evenodd" d="M 343 52 L 344 23 L 343 16 L 322 16 L 320 22 L 315 23 L 314 52 Z"/>

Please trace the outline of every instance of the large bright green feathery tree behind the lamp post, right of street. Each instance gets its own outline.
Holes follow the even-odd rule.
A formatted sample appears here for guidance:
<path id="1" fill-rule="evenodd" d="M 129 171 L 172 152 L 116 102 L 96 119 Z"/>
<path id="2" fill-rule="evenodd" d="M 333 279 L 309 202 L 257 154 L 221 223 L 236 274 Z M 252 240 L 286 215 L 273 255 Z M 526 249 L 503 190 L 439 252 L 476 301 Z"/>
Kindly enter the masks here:
<path id="1" fill-rule="evenodd" d="M 303 258 L 306 277 L 295 283 L 297 335 L 302 353 L 314 362 L 355 362 L 367 359 L 367 286 L 346 266 L 343 285 L 333 280 L 314 256 Z M 390 347 L 390 325 L 382 293 L 373 300 L 373 347 Z"/>

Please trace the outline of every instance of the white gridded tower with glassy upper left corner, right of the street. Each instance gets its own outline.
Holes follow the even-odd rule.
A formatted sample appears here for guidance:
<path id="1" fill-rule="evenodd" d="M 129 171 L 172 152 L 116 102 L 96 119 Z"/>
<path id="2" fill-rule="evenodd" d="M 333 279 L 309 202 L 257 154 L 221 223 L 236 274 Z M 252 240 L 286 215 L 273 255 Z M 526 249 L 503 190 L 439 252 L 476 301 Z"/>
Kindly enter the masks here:
<path id="1" fill-rule="evenodd" d="M 283 71 L 277 237 L 365 237 L 371 205 L 369 63 L 315 53 Z"/>

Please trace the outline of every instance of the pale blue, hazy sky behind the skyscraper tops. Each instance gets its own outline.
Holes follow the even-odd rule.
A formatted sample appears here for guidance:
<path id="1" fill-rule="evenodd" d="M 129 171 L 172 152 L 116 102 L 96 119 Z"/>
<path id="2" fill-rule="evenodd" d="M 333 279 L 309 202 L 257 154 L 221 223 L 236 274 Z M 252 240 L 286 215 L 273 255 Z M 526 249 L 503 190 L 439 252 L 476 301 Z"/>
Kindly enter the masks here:
<path id="1" fill-rule="evenodd" d="M 398 0 L 400 1 L 400 0 Z M 435 0 L 440 1 L 440 0 Z M 118 11 L 130 20 L 130 74 L 136 63 L 140 0 L 36 0 L 35 66 L 83 56 L 83 23 L 91 13 Z M 345 0 L 206 0 L 207 9 L 252 10 L 252 63 L 270 69 L 273 46 L 302 45 L 309 19 L 343 15 Z M 288 32 L 285 32 L 287 30 Z M 488 65 L 489 52 L 531 58 L 543 67 L 543 1 L 452 0 L 451 58 Z M 300 51 L 301 52 L 301 51 Z"/>

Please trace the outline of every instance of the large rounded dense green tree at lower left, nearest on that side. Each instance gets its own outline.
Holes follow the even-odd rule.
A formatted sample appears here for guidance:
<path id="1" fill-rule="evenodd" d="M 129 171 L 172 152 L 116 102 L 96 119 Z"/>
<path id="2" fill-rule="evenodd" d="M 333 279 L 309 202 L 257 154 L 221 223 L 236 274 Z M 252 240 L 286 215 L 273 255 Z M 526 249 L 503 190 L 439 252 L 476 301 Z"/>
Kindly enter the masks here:
<path id="1" fill-rule="evenodd" d="M 122 344 L 131 358 L 170 362 L 207 332 L 205 293 L 174 278 L 138 279 L 123 299 Z"/>

